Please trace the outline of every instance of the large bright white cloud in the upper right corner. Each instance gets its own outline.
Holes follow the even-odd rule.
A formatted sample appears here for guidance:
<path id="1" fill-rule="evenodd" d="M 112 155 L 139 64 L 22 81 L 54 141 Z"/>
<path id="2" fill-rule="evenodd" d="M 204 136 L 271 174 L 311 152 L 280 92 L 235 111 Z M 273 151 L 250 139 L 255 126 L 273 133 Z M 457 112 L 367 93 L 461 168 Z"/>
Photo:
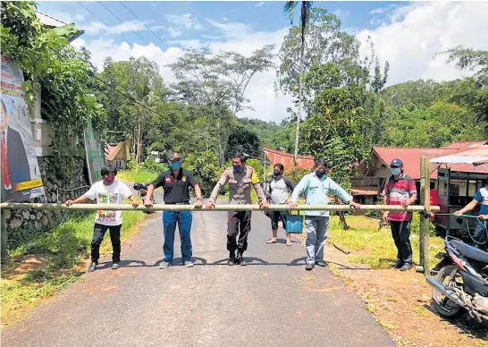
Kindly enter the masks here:
<path id="1" fill-rule="evenodd" d="M 406 80 L 454 80 L 469 75 L 446 64 L 437 52 L 462 45 L 488 50 L 488 3 L 411 3 L 389 9 L 387 19 L 374 30 L 362 30 L 361 42 L 374 40 L 380 61 L 391 64 L 388 84 Z"/>

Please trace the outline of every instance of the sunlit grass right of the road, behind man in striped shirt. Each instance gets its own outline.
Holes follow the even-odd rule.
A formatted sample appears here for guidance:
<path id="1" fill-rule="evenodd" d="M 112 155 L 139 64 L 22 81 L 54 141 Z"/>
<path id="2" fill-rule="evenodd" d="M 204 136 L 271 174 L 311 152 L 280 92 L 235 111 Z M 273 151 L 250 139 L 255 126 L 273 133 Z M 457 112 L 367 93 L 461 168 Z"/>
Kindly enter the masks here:
<path id="1" fill-rule="evenodd" d="M 375 269 L 388 268 L 397 258 L 397 249 L 391 238 L 389 227 L 378 229 L 378 222 L 365 216 L 347 216 L 350 226 L 348 231 L 341 229 L 339 217 L 331 218 L 330 240 L 343 250 L 351 253 L 348 260 L 353 263 L 366 264 Z M 419 261 L 419 235 L 412 233 L 410 242 L 414 253 L 414 262 Z M 442 238 L 431 236 L 430 261 L 433 267 L 438 259 L 434 256 L 443 250 Z"/>

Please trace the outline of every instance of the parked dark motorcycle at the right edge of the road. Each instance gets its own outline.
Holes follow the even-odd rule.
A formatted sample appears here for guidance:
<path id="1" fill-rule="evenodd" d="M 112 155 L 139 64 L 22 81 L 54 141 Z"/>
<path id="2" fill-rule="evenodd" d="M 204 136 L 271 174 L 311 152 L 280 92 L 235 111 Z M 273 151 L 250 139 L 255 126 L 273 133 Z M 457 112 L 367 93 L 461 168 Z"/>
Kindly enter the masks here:
<path id="1" fill-rule="evenodd" d="M 427 277 L 433 287 L 434 308 L 443 317 L 468 313 L 479 323 L 488 322 L 488 253 L 449 233 L 444 248 L 445 253 L 435 256 L 441 259 L 433 268 L 437 275 Z"/>

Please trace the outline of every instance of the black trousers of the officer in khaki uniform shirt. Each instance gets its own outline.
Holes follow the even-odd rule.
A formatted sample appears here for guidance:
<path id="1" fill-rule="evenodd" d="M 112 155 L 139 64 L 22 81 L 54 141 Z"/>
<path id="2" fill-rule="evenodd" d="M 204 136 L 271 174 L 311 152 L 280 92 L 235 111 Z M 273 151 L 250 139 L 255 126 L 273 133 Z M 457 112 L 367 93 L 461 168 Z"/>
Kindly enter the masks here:
<path id="1" fill-rule="evenodd" d="M 227 250 L 243 253 L 248 250 L 248 234 L 251 231 L 251 211 L 229 211 L 227 214 Z M 238 240 L 239 234 L 239 240 Z"/>

